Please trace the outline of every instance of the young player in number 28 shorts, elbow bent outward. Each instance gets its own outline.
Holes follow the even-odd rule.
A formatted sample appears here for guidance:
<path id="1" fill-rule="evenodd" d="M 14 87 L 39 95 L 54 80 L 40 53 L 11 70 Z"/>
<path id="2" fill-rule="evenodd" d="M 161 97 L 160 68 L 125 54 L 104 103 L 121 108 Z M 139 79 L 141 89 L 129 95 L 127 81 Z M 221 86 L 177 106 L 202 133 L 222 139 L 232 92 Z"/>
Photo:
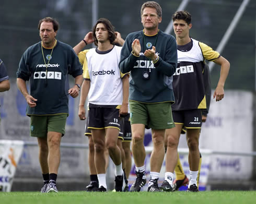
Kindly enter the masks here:
<path id="1" fill-rule="evenodd" d="M 176 127 L 166 130 L 167 153 L 165 181 L 161 188 L 172 190 L 173 171 L 177 164 L 178 144 L 182 127 L 187 128 L 189 146 L 190 182 L 188 191 L 198 191 L 200 152 L 199 135 L 202 125 L 202 109 L 206 108 L 204 89 L 204 61 L 213 61 L 221 66 L 220 77 L 213 97 L 216 101 L 224 98 L 224 85 L 229 72 L 229 62 L 206 44 L 189 36 L 192 28 L 191 15 L 187 11 L 177 11 L 172 15 L 173 29 L 176 34 L 178 66 L 173 75 L 175 103 L 172 116 Z"/>

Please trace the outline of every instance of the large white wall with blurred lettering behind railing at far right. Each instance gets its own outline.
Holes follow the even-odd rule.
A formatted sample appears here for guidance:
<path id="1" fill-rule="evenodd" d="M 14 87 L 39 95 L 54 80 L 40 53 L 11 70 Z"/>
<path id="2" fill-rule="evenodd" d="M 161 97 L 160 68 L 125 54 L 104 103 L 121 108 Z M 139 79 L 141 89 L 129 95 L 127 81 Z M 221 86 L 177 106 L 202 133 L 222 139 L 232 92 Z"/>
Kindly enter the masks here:
<path id="1" fill-rule="evenodd" d="M 253 157 L 241 157 L 235 152 L 253 151 L 254 111 L 252 92 L 226 91 L 222 101 L 212 99 L 201 130 L 200 148 L 234 155 L 212 155 L 210 179 L 250 179 Z"/>

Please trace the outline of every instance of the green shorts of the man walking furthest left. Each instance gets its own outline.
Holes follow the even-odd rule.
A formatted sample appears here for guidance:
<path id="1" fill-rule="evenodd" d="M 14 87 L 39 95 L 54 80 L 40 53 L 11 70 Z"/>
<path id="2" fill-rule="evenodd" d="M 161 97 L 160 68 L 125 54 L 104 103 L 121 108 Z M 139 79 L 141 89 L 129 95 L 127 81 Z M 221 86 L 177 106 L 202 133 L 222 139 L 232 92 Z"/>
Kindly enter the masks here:
<path id="1" fill-rule="evenodd" d="M 65 134 L 67 114 L 58 115 L 31 115 L 30 136 L 47 137 L 49 131 Z"/>

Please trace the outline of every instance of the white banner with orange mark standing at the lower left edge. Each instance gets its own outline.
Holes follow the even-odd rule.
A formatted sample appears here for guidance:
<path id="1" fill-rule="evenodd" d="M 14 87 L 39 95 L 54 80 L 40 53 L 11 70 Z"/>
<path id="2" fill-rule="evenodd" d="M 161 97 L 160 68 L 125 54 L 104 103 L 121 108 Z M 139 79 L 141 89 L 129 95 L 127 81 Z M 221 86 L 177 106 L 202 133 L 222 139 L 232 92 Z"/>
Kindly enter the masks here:
<path id="1" fill-rule="evenodd" d="M 23 141 L 0 140 L 0 191 L 10 192 L 23 147 Z"/>

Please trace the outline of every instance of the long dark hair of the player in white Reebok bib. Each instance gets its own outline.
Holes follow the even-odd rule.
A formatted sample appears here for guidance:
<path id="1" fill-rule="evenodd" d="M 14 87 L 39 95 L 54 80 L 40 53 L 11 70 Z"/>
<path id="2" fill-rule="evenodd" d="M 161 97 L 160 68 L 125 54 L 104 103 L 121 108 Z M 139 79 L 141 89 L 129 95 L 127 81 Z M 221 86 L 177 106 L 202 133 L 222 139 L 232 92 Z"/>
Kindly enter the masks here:
<path id="1" fill-rule="evenodd" d="M 96 32 L 96 27 L 99 23 L 103 23 L 105 25 L 106 29 L 109 32 L 109 41 L 111 44 L 113 44 L 115 40 L 114 27 L 112 26 L 111 22 L 106 18 L 100 18 L 99 20 L 97 20 L 95 26 L 92 28 L 92 34 L 94 36 L 94 44 L 98 46 L 98 40 L 96 38 L 95 32 Z"/>

